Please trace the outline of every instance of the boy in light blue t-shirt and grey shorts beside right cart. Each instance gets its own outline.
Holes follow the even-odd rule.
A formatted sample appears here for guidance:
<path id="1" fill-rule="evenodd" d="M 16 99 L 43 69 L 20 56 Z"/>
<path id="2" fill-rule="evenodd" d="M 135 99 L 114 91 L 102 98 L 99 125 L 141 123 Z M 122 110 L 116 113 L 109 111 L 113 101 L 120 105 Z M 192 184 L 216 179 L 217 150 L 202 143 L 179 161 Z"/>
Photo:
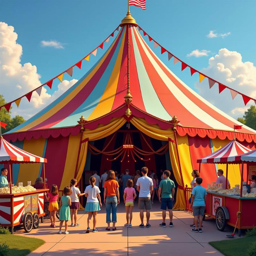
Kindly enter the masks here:
<path id="1" fill-rule="evenodd" d="M 196 187 L 193 188 L 191 192 L 191 207 L 193 209 L 195 228 L 192 228 L 192 232 L 202 232 L 202 222 L 204 215 L 204 207 L 206 201 L 206 189 L 201 186 L 203 179 L 198 177 L 196 178 Z M 199 219 L 199 228 L 198 228 L 198 219 Z"/>

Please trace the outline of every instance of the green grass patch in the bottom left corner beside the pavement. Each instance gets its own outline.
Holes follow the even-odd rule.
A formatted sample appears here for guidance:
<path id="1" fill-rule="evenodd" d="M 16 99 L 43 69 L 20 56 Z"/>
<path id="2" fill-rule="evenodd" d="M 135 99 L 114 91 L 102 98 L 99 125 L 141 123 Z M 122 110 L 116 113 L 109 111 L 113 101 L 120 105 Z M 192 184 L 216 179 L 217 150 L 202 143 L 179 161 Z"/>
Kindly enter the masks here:
<path id="1" fill-rule="evenodd" d="M 0 235 L 0 241 L 10 247 L 10 256 L 25 256 L 45 243 L 41 239 L 17 235 Z"/>

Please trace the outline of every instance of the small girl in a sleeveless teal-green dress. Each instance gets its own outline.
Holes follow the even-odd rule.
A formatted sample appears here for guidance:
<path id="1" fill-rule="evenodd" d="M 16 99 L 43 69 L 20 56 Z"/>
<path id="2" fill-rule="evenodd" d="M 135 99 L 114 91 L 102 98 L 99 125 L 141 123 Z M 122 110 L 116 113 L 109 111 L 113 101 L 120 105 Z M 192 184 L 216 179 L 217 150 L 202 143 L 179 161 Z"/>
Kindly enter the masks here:
<path id="1" fill-rule="evenodd" d="M 70 209 L 69 206 L 71 205 L 71 198 L 70 195 L 72 194 L 72 190 L 70 187 L 65 187 L 63 190 L 64 196 L 61 196 L 60 199 L 60 230 L 59 234 L 61 234 L 61 228 L 63 221 L 65 220 L 65 235 L 69 234 L 68 232 L 68 220 L 70 220 Z M 69 206 L 68 206 L 69 205 Z"/>

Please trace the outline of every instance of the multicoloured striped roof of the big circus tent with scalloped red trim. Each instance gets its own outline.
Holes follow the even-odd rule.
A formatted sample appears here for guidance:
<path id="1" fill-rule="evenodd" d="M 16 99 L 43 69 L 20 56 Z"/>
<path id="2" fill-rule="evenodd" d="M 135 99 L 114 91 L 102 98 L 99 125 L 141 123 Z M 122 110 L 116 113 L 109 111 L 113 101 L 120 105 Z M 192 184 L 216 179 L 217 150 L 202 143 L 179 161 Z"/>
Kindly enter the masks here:
<path id="1" fill-rule="evenodd" d="M 120 113 L 124 115 L 128 28 L 132 115 L 137 109 L 136 113 L 140 112 L 140 117 L 154 118 L 151 124 L 163 121 L 166 124 L 164 129 L 172 127 L 168 122 L 175 115 L 180 121 L 177 128 L 180 136 L 188 134 L 204 138 L 207 135 L 210 138 L 218 136 L 220 139 L 228 137 L 232 140 L 234 124 L 241 123 L 204 100 L 175 76 L 133 25 L 123 25 L 108 50 L 76 84 L 25 123 L 6 132 L 5 138 L 14 141 L 17 138 L 23 140 L 40 136 L 56 138 L 60 134 L 68 136 L 64 133 L 76 135 L 80 131 L 76 126 L 77 121 L 82 115 L 88 121 L 86 125 L 93 120 L 104 124 L 112 117 L 120 116 Z M 124 108 L 124 111 L 116 111 L 120 108 Z M 109 118 L 100 119 L 106 115 Z M 15 133 L 19 133 L 19 137 L 15 137 Z M 244 125 L 236 132 L 236 138 L 256 142 L 256 131 Z"/>

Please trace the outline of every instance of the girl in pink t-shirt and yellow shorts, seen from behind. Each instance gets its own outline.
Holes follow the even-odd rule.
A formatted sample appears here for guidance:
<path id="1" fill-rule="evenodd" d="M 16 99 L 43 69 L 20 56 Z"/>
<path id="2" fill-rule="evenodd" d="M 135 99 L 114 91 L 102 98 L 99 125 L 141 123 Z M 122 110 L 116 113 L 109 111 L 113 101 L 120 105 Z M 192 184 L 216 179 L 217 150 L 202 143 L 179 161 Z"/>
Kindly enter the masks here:
<path id="1" fill-rule="evenodd" d="M 133 181 L 132 179 L 127 180 L 126 188 L 124 188 L 124 202 L 125 202 L 125 210 L 126 210 L 126 224 L 124 227 L 132 228 L 132 209 L 133 209 L 133 202 L 136 198 L 136 192 L 133 188 Z M 130 213 L 130 218 L 129 218 Z M 128 224 L 128 221 L 130 222 Z"/>

